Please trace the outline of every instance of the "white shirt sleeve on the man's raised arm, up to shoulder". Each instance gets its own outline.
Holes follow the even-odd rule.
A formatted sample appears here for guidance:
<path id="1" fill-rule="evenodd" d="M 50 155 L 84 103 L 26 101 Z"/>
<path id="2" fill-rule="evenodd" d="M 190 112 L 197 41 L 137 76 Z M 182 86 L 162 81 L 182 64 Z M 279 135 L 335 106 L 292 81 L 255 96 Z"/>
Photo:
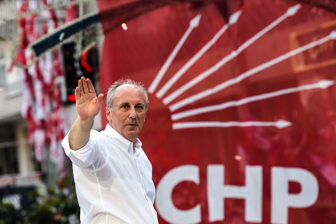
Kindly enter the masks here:
<path id="1" fill-rule="evenodd" d="M 69 132 L 62 140 L 62 146 L 74 165 L 92 170 L 99 168 L 106 162 L 106 153 L 104 151 L 106 149 L 101 145 L 104 139 L 101 139 L 98 131 L 91 130 L 89 141 L 78 150 L 70 148 Z"/>

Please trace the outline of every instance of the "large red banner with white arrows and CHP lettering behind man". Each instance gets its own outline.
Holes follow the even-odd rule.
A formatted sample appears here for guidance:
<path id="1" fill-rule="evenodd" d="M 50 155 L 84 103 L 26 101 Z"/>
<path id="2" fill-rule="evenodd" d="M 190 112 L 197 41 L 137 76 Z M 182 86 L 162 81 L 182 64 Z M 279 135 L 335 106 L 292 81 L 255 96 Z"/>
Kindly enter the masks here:
<path id="1" fill-rule="evenodd" d="M 335 14 L 227 7 L 167 6 L 104 40 L 100 92 L 149 90 L 139 139 L 159 222 L 336 222 Z"/>

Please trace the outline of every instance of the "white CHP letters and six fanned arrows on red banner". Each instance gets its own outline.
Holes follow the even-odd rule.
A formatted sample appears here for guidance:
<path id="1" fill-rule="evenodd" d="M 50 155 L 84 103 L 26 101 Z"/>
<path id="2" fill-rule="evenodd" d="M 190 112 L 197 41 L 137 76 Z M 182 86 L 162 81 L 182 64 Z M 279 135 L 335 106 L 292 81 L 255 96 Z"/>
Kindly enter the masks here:
<path id="1" fill-rule="evenodd" d="M 295 16 L 297 11 L 301 8 L 301 4 L 289 7 L 288 10 L 275 19 L 271 24 L 264 29 L 256 33 L 253 37 L 248 39 L 237 49 L 230 54 L 222 58 L 216 64 L 196 75 L 185 84 L 179 86 L 170 94 L 167 92 L 172 88 L 174 84 L 183 76 L 183 74 L 191 68 L 210 48 L 216 43 L 230 26 L 233 26 L 239 20 L 242 10 L 237 11 L 230 16 L 229 23 L 225 24 L 213 38 L 204 45 L 192 58 L 190 58 L 183 66 L 172 76 L 164 85 L 158 89 L 158 85 L 169 69 L 170 64 L 173 62 L 175 56 L 187 41 L 188 36 L 194 29 L 197 29 L 201 14 L 197 15 L 190 21 L 190 26 L 181 37 L 159 73 L 149 87 L 149 93 L 155 94 L 158 99 L 162 99 L 162 103 L 167 105 L 171 112 L 171 120 L 173 121 L 172 129 L 191 129 L 191 128 L 206 128 L 206 127 L 248 127 L 259 126 L 269 127 L 274 126 L 279 129 L 286 128 L 291 125 L 290 121 L 278 120 L 278 121 L 193 121 L 193 122 L 178 122 L 183 118 L 195 117 L 201 118 L 204 113 L 212 111 L 221 111 L 229 107 L 235 107 L 244 105 L 250 102 L 255 102 L 268 98 L 275 98 L 277 96 L 307 91 L 310 89 L 326 89 L 331 85 L 334 85 L 333 80 L 320 80 L 316 83 L 307 85 L 301 85 L 294 88 L 286 88 L 274 92 L 268 92 L 260 95 L 249 96 L 243 99 L 235 101 L 222 102 L 220 104 L 208 105 L 203 107 L 197 107 L 188 109 L 188 105 L 198 100 L 204 99 L 212 94 L 224 90 L 225 88 L 238 84 L 239 82 L 247 79 L 250 76 L 256 75 L 258 72 L 263 71 L 270 66 L 281 63 L 282 61 L 299 55 L 309 49 L 314 49 L 318 46 L 326 44 L 336 39 L 336 31 L 332 31 L 323 38 L 316 39 L 303 46 L 287 52 L 278 57 L 272 58 L 235 78 L 226 80 L 220 84 L 215 85 L 212 88 L 201 91 L 197 94 L 185 97 L 173 102 L 176 98 L 181 96 L 184 92 L 193 88 L 196 84 L 202 82 L 207 77 L 214 74 L 225 65 L 228 61 L 234 59 L 241 54 L 246 48 L 252 45 L 260 37 L 267 34 L 272 28 L 278 26 L 282 21 L 286 20 L 290 16 Z M 180 112 L 176 110 L 183 108 Z M 225 198 L 242 198 L 245 199 L 245 221 L 246 222 L 262 222 L 262 166 L 246 166 L 245 167 L 245 186 L 234 186 L 224 184 L 224 166 L 223 165 L 208 165 L 207 166 L 207 199 L 208 199 L 208 214 L 209 221 L 222 221 L 224 220 L 224 199 Z M 195 184 L 200 183 L 200 171 L 199 167 L 195 165 L 182 165 L 170 170 L 166 173 L 157 185 L 157 196 L 155 205 L 158 213 L 166 221 L 170 223 L 200 223 L 202 222 L 201 205 L 197 204 L 191 209 L 178 209 L 172 200 L 172 192 L 176 185 L 183 181 L 191 181 Z M 271 168 L 271 223 L 287 223 L 288 221 L 288 208 L 305 208 L 313 205 L 318 197 L 319 185 L 316 177 L 309 171 L 301 168 L 285 168 L 285 167 L 273 167 Z M 301 185 L 301 191 L 296 194 L 289 193 L 288 185 L 290 181 L 298 182 Z"/>

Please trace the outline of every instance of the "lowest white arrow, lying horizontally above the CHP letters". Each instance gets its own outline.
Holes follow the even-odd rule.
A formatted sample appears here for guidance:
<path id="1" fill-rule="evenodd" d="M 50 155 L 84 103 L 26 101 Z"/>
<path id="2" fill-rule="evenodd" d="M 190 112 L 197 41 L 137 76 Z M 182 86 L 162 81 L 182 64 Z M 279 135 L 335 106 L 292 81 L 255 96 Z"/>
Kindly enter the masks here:
<path id="1" fill-rule="evenodd" d="M 265 122 L 265 121 L 197 121 L 197 122 L 180 122 L 173 123 L 173 129 L 186 129 L 186 128 L 227 128 L 227 127 L 249 127 L 249 126 L 259 126 L 259 127 L 277 127 L 279 129 L 291 126 L 292 123 L 285 120 L 278 120 L 277 122 Z"/>

